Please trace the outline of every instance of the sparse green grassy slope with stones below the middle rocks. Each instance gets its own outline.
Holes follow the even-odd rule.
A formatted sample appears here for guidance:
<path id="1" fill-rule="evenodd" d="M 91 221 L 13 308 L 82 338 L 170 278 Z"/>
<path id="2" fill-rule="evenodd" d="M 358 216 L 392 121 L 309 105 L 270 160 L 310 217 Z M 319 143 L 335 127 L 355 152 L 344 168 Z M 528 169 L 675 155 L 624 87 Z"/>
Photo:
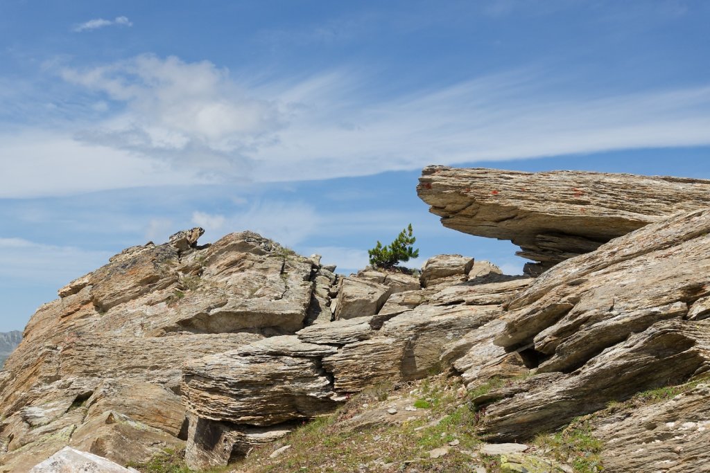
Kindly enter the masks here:
<path id="1" fill-rule="evenodd" d="M 274 445 L 255 448 L 232 467 L 253 473 L 470 472 L 472 463 L 480 463 L 470 453 L 476 450 L 480 440 L 475 433 L 475 413 L 466 405 L 466 399 L 457 397 L 460 384 L 454 383 L 445 377 L 436 377 L 400 383 L 388 394 L 387 384 L 374 386 L 353 396 L 331 416 L 305 423 Z M 413 393 L 419 396 L 420 406 L 430 405 L 425 416 L 395 425 L 382 423 L 349 428 L 344 423 L 368 409 L 386 408 L 387 400 Z M 455 446 L 449 446 L 447 455 L 430 457 L 430 450 L 449 443 Z M 275 459 L 269 458 L 281 445 L 291 445 L 291 448 Z"/>

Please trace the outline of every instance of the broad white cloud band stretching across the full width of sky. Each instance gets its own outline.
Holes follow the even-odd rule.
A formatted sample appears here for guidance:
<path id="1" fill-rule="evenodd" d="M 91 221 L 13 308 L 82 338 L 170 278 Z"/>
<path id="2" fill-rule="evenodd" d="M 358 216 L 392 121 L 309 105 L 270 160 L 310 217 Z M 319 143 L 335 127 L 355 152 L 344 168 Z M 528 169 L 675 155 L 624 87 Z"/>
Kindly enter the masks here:
<path id="1" fill-rule="evenodd" d="M 344 69 L 238 83 L 211 62 L 177 57 L 52 67 L 97 95 L 86 100 L 94 115 L 65 121 L 51 139 L 36 129 L 0 135 L 9 163 L 0 196 L 710 145 L 710 87 L 605 95 L 521 69 L 375 99 L 367 77 Z M 37 179 L 38 169 L 56 179 Z"/>

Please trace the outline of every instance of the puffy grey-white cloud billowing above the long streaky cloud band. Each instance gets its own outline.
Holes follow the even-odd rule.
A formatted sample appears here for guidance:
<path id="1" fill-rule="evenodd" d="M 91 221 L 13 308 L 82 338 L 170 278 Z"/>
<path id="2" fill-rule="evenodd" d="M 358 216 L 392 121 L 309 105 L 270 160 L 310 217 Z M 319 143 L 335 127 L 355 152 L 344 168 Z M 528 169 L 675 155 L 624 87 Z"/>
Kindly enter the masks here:
<path id="1" fill-rule="evenodd" d="M 122 113 L 77 137 L 204 174 L 244 175 L 249 152 L 275 139 L 281 115 L 273 101 L 249 94 L 212 63 L 141 55 L 114 65 L 60 74 L 126 104 Z"/>

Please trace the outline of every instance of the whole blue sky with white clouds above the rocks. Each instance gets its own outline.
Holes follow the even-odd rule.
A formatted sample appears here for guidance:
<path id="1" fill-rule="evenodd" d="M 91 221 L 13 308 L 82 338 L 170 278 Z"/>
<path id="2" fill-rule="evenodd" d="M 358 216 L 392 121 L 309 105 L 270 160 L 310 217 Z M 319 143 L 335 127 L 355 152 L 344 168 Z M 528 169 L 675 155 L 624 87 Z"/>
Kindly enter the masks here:
<path id="1" fill-rule="evenodd" d="M 427 213 L 428 164 L 710 179 L 707 1 L 165 5 L 0 2 L 0 331 L 195 225 L 349 272 L 411 222 L 518 272 Z"/>

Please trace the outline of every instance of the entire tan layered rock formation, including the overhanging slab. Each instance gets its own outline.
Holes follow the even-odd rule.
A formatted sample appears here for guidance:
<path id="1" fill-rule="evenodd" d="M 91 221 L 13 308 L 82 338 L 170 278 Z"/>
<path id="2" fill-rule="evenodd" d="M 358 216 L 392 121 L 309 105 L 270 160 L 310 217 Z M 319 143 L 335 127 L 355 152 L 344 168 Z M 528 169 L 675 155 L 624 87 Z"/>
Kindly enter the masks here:
<path id="1" fill-rule="evenodd" d="M 192 467 L 226 464 L 370 386 L 447 369 L 475 391 L 488 442 L 588 414 L 606 471 L 703 470 L 710 182 L 429 167 L 419 191 L 444 225 L 513 240 L 540 262 L 529 272 L 554 267 L 530 279 L 439 255 L 419 277 L 338 277 L 251 232 L 197 245 L 200 228 L 131 247 L 28 323 L 0 372 L 0 471 L 66 445 L 77 461 L 185 448 Z M 357 428 L 409 418 L 388 410 Z"/>

